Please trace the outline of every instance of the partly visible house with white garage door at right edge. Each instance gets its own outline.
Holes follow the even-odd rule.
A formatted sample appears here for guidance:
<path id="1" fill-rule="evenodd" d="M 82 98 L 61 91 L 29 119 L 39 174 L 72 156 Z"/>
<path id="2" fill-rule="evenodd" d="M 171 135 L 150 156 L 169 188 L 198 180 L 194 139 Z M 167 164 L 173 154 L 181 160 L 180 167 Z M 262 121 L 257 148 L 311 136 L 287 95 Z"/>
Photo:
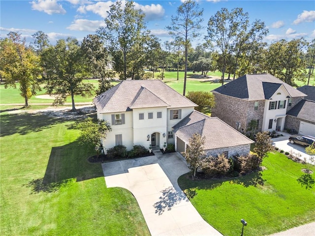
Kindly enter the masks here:
<path id="1" fill-rule="evenodd" d="M 315 137 L 315 86 L 303 86 L 298 90 L 307 97 L 286 113 L 285 127 Z"/>

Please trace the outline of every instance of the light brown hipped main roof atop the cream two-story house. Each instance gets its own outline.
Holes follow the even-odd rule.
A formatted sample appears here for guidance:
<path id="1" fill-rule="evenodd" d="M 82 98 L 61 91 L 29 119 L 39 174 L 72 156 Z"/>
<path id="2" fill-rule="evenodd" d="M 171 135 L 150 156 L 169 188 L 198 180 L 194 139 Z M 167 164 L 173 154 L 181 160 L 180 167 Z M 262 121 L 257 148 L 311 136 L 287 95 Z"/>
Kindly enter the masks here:
<path id="1" fill-rule="evenodd" d="M 132 108 L 196 107 L 188 98 L 160 80 L 122 81 L 93 100 L 100 113 L 125 112 Z"/>

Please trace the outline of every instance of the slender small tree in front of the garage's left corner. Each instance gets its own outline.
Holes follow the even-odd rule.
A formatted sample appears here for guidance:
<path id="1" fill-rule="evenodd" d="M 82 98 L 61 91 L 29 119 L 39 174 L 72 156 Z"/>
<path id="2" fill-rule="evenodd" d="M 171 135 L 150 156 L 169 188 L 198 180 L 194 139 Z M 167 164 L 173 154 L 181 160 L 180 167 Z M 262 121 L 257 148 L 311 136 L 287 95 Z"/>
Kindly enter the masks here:
<path id="1" fill-rule="evenodd" d="M 190 171 L 193 173 L 193 177 L 196 177 L 196 170 L 200 165 L 200 160 L 206 156 L 206 153 L 203 150 L 204 143 L 205 138 L 201 137 L 200 134 L 195 133 L 189 139 L 189 147 L 187 147 L 185 152 L 182 152 L 189 165 Z"/>

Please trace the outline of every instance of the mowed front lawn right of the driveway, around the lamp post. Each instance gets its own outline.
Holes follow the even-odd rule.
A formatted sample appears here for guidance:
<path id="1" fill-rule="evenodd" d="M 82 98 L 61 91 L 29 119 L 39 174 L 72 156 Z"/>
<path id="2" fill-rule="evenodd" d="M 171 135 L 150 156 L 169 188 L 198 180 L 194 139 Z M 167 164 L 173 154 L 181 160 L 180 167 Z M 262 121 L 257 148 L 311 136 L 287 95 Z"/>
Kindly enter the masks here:
<path id="1" fill-rule="evenodd" d="M 244 177 L 178 182 L 201 216 L 224 236 L 263 236 L 315 221 L 315 189 L 297 182 L 304 165 L 279 152 L 269 153 L 267 170 Z M 315 171 L 315 167 L 312 167 Z M 314 178 L 314 175 L 313 175 Z"/>

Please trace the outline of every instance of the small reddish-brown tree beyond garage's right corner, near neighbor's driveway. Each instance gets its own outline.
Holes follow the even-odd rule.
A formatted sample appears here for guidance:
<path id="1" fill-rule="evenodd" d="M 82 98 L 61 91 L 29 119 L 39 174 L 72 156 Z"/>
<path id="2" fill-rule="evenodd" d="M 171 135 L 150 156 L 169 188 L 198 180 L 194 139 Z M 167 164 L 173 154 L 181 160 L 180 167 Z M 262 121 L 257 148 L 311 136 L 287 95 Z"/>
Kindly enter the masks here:
<path id="1" fill-rule="evenodd" d="M 254 152 L 260 159 L 260 163 L 262 162 L 262 159 L 268 155 L 268 152 L 273 150 L 274 147 L 272 146 L 272 141 L 269 137 L 268 132 L 265 131 L 257 133 Z"/>

